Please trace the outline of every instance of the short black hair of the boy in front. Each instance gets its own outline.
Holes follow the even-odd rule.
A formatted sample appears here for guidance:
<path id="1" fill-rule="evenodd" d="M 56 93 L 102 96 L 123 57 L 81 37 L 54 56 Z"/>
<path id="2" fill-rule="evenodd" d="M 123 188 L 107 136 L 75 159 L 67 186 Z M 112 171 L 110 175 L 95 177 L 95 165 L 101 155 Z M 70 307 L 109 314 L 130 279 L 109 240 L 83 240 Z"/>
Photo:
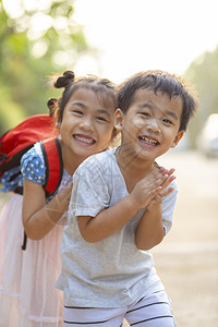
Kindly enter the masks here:
<path id="1" fill-rule="evenodd" d="M 140 72 L 131 76 L 118 87 L 118 108 L 123 113 L 128 112 L 140 89 L 153 90 L 156 94 L 160 92 L 167 94 L 170 99 L 181 98 L 182 116 L 179 132 L 186 130 L 187 122 L 196 110 L 197 100 L 193 89 L 182 77 L 159 70 Z"/>

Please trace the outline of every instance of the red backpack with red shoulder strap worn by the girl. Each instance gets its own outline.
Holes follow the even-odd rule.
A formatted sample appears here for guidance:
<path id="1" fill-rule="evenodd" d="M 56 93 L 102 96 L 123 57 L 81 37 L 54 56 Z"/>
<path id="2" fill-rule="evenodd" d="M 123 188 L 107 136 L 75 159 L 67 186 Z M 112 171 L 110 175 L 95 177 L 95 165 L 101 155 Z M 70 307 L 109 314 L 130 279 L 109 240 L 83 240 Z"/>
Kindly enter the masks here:
<path id="1" fill-rule="evenodd" d="M 19 167 L 22 156 L 36 142 L 40 142 L 47 168 L 44 189 L 47 195 L 53 194 L 63 173 L 61 147 L 56 137 L 55 123 L 55 117 L 36 114 L 3 134 L 0 137 L 0 178 L 5 171 Z M 14 192 L 22 194 L 23 190 L 17 187 Z"/>

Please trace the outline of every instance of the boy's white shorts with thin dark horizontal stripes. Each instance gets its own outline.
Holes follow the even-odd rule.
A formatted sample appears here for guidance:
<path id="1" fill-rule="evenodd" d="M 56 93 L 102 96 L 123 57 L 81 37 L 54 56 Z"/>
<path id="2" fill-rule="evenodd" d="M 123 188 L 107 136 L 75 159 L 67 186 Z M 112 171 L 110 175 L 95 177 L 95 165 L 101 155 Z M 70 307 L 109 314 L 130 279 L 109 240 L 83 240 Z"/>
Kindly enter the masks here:
<path id="1" fill-rule="evenodd" d="M 112 308 L 64 306 L 64 327 L 121 327 L 125 318 L 130 326 L 174 327 L 169 299 L 160 282 L 131 305 Z"/>

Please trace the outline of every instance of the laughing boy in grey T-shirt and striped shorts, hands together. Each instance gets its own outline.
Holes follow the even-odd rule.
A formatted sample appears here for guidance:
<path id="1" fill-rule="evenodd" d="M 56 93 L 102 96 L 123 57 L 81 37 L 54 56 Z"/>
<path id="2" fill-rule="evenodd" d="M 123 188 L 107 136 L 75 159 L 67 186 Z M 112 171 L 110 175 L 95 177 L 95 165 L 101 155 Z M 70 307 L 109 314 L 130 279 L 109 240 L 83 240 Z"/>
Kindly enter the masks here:
<path id="1" fill-rule="evenodd" d="M 177 184 L 155 160 L 178 145 L 196 101 L 179 77 L 148 71 L 119 87 L 118 106 L 121 145 L 74 174 L 57 283 L 64 326 L 175 326 L 149 250 L 171 228 Z"/>

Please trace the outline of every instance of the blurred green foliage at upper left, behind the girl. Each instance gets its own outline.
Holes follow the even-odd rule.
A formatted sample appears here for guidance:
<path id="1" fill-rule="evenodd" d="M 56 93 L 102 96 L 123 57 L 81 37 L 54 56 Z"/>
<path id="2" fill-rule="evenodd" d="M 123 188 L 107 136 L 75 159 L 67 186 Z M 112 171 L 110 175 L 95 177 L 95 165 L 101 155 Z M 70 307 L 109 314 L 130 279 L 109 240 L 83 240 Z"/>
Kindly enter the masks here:
<path id="1" fill-rule="evenodd" d="M 48 112 L 50 97 L 59 97 L 49 76 L 74 69 L 88 51 L 83 27 L 73 20 L 73 1 L 50 0 L 48 5 L 10 16 L 0 0 L 0 135 L 25 117 Z M 39 1 L 41 3 L 41 1 Z M 7 7 L 7 5 L 5 5 Z M 34 21 L 41 24 L 34 32 Z"/>

